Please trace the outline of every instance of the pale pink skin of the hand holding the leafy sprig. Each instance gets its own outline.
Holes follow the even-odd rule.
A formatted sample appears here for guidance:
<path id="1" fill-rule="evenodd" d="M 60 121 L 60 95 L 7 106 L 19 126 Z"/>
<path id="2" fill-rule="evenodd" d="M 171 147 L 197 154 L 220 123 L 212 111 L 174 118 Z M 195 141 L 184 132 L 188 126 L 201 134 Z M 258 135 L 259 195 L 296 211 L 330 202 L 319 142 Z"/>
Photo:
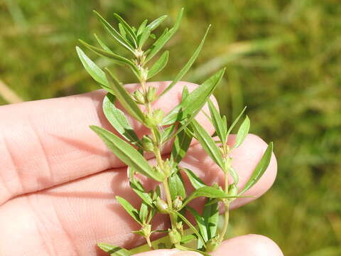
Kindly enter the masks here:
<path id="1" fill-rule="evenodd" d="M 168 82 L 149 85 L 163 90 Z M 154 107 L 165 112 L 180 101 L 180 82 Z M 127 85 L 134 90 L 136 85 Z M 119 206 L 114 196 L 122 196 L 134 206 L 139 198 L 129 188 L 126 167 L 88 126 L 112 130 L 102 112 L 103 90 L 50 100 L 24 102 L 0 107 L 0 255 L 106 255 L 97 242 L 136 247 L 144 240 L 131 233 L 139 229 Z M 167 99 L 165 101 L 165 99 Z M 206 108 L 207 110 L 207 108 Z M 204 114 L 197 120 L 212 132 Z M 146 129 L 131 120 L 139 135 Z M 234 135 L 229 137 L 233 144 Z M 233 166 L 239 172 L 239 187 L 251 175 L 266 149 L 266 143 L 248 135 L 232 151 Z M 171 151 L 163 149 L 163 156 Z M 148 156 L 153 163 L 154 159 Z M 206 183 L 220 182 L 221 171 L 197 142 L 190 146 L 182 163 Z M 276 178 L 276 158 L 247 195 L 232 203 L 236 208 L 264 194 Z M 141 178 L 144 186 L 156 183 Z M 185 181 L 188 183 L 188 181 Z M 192 189 L 188 188 L 189 190 Z M 192 206 L 200 208 L 198 199 Z M 233 214 L 233 213 L 232 213 Z M 165 215 L 157 215 L 153 228 L 168 226 Z M 180 253 L 180 254 L 179 254 Z M 185 254 L 183 254 L 185 253 Z M 190 254 L 186 254 L 190 253 Z M 177 250 L 156 250 L 140 256 L 196 255 Z M 212 255 L 283 255 L 278 246 L 261 235 L 244 235 L 225 241 Z"/>

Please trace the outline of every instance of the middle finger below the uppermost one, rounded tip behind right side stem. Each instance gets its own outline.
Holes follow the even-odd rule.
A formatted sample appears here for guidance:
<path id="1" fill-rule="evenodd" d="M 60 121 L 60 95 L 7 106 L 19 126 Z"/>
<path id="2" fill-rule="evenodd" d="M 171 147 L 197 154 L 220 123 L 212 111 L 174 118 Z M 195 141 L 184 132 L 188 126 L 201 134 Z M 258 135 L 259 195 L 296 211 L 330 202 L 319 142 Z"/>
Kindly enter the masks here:
<path id="1" fill-rule="evenodd" d="M 251 135 L 238 151 L 234 151 L 233 164 L 240 171 L 241 181 L 251 175 L 265 149 L 266 144 Z M 205 183 L 221 179 L 221 171 L 200 146 L 190 149 L 183 164 L 195 171 Z M 239 170 L 239 167 L 243 169 Z M 261 196 L 275 177 L 276 160 L 273 158 L 264 176 L 252 188 L 252 193 Z M 153 186 L 151 183 L 145 185 L 148 188 Z M 0 247 L 12 252 L 11 255 L 20 255 L 21 250 L 30 251 L 36 247 L 43 251 L 42 254 L 49 253 L 44 250 L 53 254 L 53 248 L 58 247 L 61 255 L 72 255 L 74 251 L 78 255 L 92 255 L 96 251 L 96 242 L 128 248 L 144 243 L 142 238 L 131 233 L 140 227 L 119 206 L 114 196 L 122 196 L 139 207 L 140 200 L 129 187 L 126 169 L 105 171 L 40 193 L 14 198 L 0 206 L 1 235 L 10 241 L 0 240 Z M 242 203 L 236 203 L 236 206 Z M 168 222 L 166 215 L 156 215 L 153 229 L 167 228 Z M 23 237 L 26 240 L 22 241 Z M 15 246 L 18 242 L 21 242 L 21 247 Z"/>

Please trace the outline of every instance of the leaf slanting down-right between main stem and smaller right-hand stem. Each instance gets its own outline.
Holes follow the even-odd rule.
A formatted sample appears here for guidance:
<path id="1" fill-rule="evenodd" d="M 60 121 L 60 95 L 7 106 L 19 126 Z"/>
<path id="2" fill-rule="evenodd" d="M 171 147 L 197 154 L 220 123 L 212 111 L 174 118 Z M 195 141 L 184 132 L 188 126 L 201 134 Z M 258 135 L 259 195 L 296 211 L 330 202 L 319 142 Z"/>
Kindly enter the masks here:
<path id="1" fill-rule="evenodd" d="M 220 168 L 224 169 L 222 154 L 210 134 L 208 134 L 206 130 L 195 119 L 190 125 L 195 133 L 195 137 L 200 142 L 202 148 L 205 149 L 206 153 L 213 161 L 215 161 L 218 166 L 220 166 Z"/>

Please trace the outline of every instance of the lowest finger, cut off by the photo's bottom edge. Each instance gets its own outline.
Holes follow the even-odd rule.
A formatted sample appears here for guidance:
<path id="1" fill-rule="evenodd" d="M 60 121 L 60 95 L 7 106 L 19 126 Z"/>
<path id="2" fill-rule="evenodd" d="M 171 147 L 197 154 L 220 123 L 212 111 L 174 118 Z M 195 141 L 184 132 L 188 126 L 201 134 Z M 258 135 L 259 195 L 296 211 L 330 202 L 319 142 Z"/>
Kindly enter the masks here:
<path id="1" fill-rule="evenodd" d="M 212 256 L 283 256 L 283 252 L 270 238 L 263 235 L 241 235 L 222 242 Z M 200 256 L 197 252 L 179 252 L 178 250 L 154 250 L 134 256 Z"/>

